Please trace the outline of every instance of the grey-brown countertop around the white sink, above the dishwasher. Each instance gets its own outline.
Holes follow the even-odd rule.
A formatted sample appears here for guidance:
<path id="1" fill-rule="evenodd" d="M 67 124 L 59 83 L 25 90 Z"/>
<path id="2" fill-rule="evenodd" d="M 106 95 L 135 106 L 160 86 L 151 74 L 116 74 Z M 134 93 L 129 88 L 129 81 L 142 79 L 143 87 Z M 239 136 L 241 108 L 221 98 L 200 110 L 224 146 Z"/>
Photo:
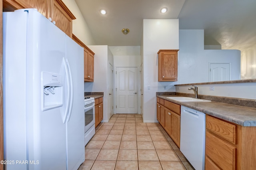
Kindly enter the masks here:
<path id="1" fill-rule="evenodd" d="M 235 123 L 245 127 L 256 127 L 256 109 L 238 105 L 230 105 L 219 102 L 179 102 L 166 97 L 178 97 L 178 95 L 157 95 L 164 100 L 171 101 L 178 105 L 218 117 L 225 121 Z M 181 96 L 179 96 L 181 97 Z"/>

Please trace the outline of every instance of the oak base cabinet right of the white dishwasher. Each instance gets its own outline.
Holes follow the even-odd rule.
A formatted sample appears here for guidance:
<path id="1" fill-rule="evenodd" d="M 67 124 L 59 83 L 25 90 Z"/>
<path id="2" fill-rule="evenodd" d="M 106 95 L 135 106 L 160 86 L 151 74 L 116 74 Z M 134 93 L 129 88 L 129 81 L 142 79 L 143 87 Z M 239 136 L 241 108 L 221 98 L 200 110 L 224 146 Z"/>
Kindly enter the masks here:
<path id="1" fill-rule="evenodd" d="M 256 167 L 256 127 L 242 127 L 206 115 L 206 170 L 252 170 Z"/>

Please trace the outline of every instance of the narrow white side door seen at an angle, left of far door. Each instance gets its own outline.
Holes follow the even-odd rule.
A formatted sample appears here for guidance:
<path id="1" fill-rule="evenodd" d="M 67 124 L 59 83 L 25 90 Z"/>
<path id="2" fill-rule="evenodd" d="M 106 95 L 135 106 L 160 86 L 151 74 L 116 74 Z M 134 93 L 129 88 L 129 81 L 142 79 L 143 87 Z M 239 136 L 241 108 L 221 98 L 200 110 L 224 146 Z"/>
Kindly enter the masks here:
<path id="1" fill-rule="evenodd" d="M 108 66 L 108 113 L 109 113 L 109 118 L 113 115 L 113 66 L 111 65 L 111 63 L 109 63 Z"/>

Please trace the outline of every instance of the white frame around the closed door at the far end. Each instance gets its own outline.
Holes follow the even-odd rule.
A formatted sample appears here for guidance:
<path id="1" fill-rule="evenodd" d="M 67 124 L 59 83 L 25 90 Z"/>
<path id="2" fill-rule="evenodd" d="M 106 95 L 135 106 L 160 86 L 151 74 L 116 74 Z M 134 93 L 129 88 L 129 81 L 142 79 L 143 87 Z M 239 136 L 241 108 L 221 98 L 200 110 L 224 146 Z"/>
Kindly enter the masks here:
<path id="1" fill-rule="evenodd" d="M 123 67 L 123 68 L 126 68 L 126 67 L 136 67 L 137 68 L 137 91 L 139 90 L 139 85 L 140 85 L 140 77 L 139 77 L 139 73 L 140 73 L 140 71 L 139 71 L 139 69 L 140 69 L 140 67 L 139 66 L 114 66 L 114 73 L 116 73 L 116 68 L 117 67 Z M 113 103 L 113 106 L 114 106 L 114 114 L 116 114 L 116 74 L 115 74 L 115 76 L 113 76 L 113 79 L 114 79 L 114 84 L 113 84 L 113 88 L 114 88 L 114 90 L 113 90 L 113 94 L 114 94 L 114 103 Z M 139 93 L 137 92 L 137 101 L 140 99 L 138 96 Z M 138 102 L 138 105 L 137 105 L 137 114 L 139 114 L 140 112 L 139 112 L 139 108 L 140 108 L 140 102 Z"/>

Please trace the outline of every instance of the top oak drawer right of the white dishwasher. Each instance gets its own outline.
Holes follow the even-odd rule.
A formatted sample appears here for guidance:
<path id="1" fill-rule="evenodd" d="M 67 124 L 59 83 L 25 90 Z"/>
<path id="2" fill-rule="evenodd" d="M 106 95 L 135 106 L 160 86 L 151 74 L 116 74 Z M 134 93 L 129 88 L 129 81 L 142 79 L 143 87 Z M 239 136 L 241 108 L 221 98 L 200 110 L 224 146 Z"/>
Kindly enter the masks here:
<path id="1" fill-rule="evenodd" d="M 206 115 L 206 129 L 236 144 L 236 125 Z"/>

